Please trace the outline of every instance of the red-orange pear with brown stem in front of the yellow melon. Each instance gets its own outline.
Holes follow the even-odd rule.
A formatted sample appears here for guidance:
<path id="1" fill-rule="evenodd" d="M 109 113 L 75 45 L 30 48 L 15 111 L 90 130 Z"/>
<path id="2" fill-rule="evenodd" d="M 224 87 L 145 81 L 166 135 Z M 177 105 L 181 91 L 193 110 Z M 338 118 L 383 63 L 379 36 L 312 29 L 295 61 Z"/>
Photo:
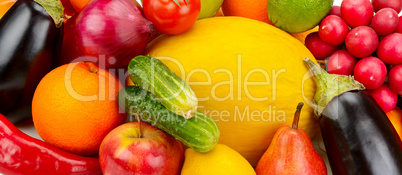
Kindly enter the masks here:
<path id="1" fill-rule="evenodd" d="M 282 126 L 276 131 L 271 145 L 258 162 L 257 175 L 266 174 L 327 174 L 327 169 L 320 155 L 314 150 L 306 132 L 298 128 L 299 103 L 292 126 Z"/>

